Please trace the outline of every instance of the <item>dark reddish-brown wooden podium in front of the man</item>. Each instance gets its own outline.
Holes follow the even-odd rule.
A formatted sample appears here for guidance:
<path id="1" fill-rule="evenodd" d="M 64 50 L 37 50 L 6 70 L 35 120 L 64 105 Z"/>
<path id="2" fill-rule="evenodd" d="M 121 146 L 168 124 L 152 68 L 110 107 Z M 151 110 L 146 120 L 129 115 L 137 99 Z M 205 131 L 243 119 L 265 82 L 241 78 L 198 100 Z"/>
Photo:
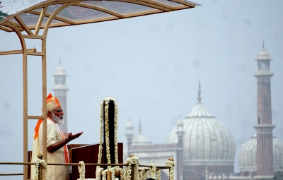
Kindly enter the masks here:
<path id="1" fill-rule="evenodd" d="M 69 148 L 76 147 L 76 145 L 68 145 Z M 98 150 L 99 144 L 93 145 L 83 145 L 76 148 L 69 149 L 70 155 L 70 163 L 79 163 L 83 161 L 86 163 L 98 163 Z M 103 150 L 102 150 L 102 157 L 103 157 Z M 120 164 L 123 163 L 123 143 L 118 143 L 118 161 Z M 101 160 L 103 162 L 103 158 Z M 107 162 L 105 162 L 107 163 Z M 112 162 L 115 164 L 115 162 Z M 87 178 L 96 178 L 96 166 L 88 166 L 86 165 L 86 179 Z M 79 179 L 79 170 L 78 166 L 72 166 L 72 174 L 71 180 Z"/>

